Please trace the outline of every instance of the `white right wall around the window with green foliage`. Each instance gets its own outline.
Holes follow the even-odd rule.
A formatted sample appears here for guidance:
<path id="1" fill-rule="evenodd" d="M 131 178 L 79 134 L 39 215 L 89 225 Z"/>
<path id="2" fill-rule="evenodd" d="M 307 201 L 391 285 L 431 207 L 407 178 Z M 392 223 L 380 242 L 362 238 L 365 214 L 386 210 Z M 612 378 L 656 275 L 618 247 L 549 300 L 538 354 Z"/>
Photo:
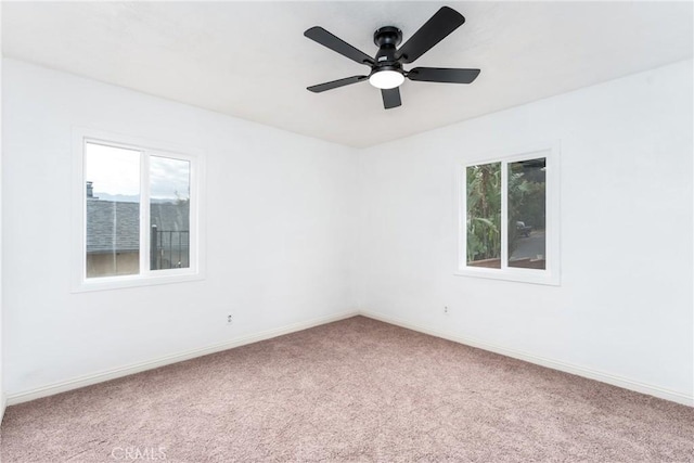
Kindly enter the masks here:
<path id="1" fill-rule="evenodd" d="M 691 403 L 692 82 L 682 62 L 361 152 L 360 308 Z M 557 139 L 562 285 L 454 276 L 455 162 Z"/>

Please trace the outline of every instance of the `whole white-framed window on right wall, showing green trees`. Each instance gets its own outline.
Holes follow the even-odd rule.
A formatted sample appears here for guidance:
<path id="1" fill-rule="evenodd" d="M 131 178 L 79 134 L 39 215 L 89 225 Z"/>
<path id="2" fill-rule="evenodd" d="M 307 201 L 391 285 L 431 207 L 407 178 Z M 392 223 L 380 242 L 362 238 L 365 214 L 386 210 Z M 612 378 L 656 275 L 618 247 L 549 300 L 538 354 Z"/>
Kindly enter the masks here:
<path id="1" fill-rule="evenodd" d="M 557 146 L 461 165 L 458 272 L 558 284 Z"/>

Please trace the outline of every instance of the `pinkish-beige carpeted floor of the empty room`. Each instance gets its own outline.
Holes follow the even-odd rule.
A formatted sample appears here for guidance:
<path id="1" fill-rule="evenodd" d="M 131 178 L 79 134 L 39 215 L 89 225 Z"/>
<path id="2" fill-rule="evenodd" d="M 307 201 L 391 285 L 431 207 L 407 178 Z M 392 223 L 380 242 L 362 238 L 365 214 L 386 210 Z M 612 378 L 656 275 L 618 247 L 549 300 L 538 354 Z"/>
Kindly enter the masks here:
<path id="1" fill-rule="evenodd" d="M 11 462 L 694 462 L 694 409 L 363 317 L 10 407 Z"/>

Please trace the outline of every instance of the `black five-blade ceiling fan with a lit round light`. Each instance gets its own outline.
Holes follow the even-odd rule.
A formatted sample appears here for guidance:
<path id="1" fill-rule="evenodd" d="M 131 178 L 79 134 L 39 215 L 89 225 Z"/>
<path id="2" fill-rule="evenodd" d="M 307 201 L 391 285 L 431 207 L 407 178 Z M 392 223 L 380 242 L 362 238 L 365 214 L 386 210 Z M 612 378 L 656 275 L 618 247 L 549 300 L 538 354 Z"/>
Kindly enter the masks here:
<path id="1" fill-rule="evenodd" d="M 359 64 L 371 67 L 371 73 L 368 76 L 352 76 L 319 83 L 307 87 L 307 90 L 320 93 L 369 80 L 372 86 L 381 89 L 383 105 L 389 110 L 402 104 L 398 87 L 406 77 L 410 80 L 426 82 L 471 83 L 479 75 L 479 69 L 415 67 L 404 70 L 402 68 L 402 64 L 412 63 L 422 56 L 464 22 L 462 14 L 452 8 L 442 7 L 399 49 L 397 47 L 402 41 L 402 31 L 394 26 L 382 27 L 373 33 L 373 42 L 378 46 L 378 52 L 374 57 L 357 50 L 322 27 L 311 27 L 304 33 L 306 37 Z"/>

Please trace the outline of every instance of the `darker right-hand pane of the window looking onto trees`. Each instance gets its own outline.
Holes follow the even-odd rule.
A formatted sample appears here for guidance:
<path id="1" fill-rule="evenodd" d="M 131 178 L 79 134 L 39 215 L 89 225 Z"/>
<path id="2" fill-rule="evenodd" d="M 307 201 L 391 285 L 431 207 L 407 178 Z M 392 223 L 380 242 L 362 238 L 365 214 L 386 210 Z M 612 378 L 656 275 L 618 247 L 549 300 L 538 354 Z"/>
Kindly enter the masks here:
<path id="1" fill-rule="evenodd" d="M 509 267 L 545 269 L 545 158 L 509 163 Z"/>

